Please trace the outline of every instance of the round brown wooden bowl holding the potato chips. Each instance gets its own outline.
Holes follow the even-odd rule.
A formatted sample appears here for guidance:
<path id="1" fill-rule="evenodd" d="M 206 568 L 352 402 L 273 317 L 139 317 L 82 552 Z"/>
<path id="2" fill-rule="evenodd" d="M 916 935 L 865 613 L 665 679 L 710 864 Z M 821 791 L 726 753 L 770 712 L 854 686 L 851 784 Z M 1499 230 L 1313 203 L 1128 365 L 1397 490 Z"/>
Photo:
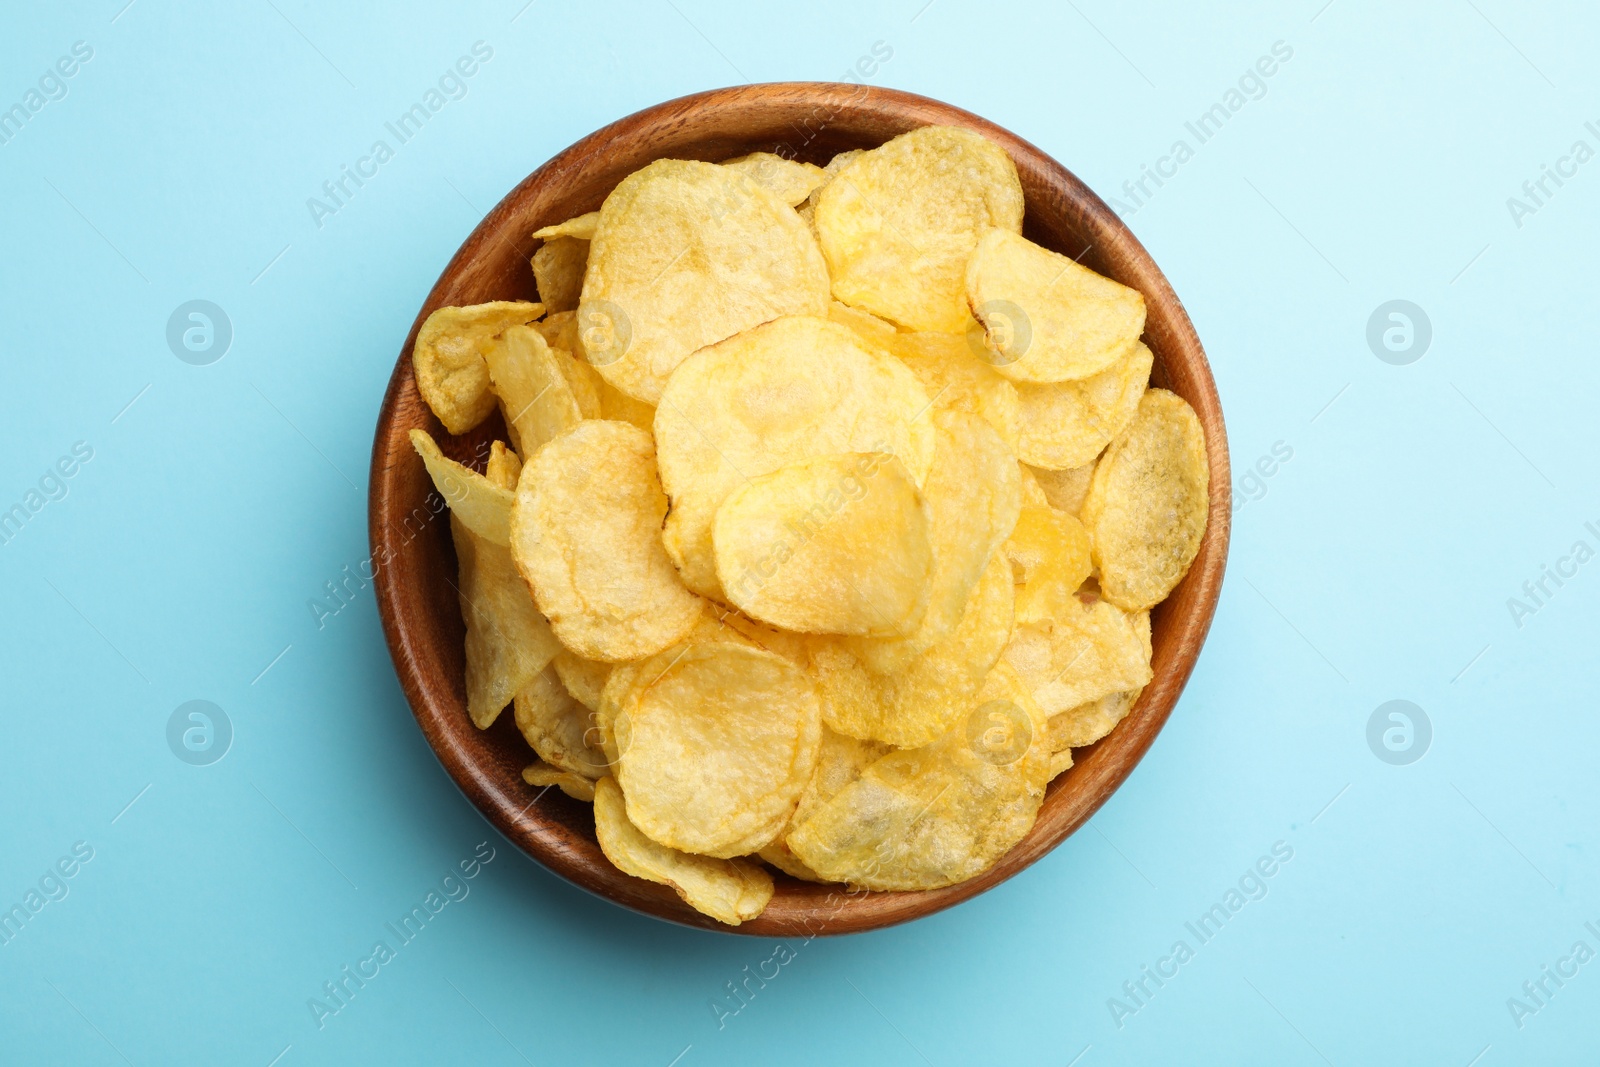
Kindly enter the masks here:
<path id="1" fill-rule="evenodd" d="M 418 395 L 411 344 L 446 304 L 536 299 L 528 256 L 541 227 L 600 206 L 624 176 L 658 158 L 725 160 L 776 150 L 826 163 L 846 149 L 875 147 L 925 125 L 982 133 L 1016 160 L 1027 197 L 1024 232 L 1144 293 L 1144 339 L 1155 354 L 1152 384 L 1184 397 L 1205 426 L 1211 453 L 1211 518 L 1200 555 L 1152 617 L 1155 678 L 1107 737 L 1075 753 L 1050 785 L 1032 832 L 982 875 L 923 893 L 851 893 L 776 875 L 766 912 L 723 926 L 661 885 L 616 870 L 600 853 L 587 805 L 523 784 L 533 760 L 507 710 L 488 731 L 467 720 L 462 621 L 450 523 L 435 514 L 432 483 L 406 432 L 422 427 L 456 459 L 480 470 L 498 418 L 451 438 Z M 378 608 L 411 710 L 440 763 L 467 798 L 528 854 L 576 885 L 624 907 L 690 926 L 758 936 L 842 934 L 930 915 L 1018 873 L 1059 845 L 1115 790 L 1155 739 L 1194 669 L 1222 584 L 1229 536 L 1229 464 L 1222 410 L 1200 339 L 1166 278 L 1106 203 L 1027 141 L 949 104 L 858 85 L 784 83 L 698 93 L 658 104 L 594 133 L 530 174 L 490 211 L 445 267 L 416 315 L 395 363 L 373 442 L 370 533 Z M 437 498 L 434 498 L 437 502 Z"/>

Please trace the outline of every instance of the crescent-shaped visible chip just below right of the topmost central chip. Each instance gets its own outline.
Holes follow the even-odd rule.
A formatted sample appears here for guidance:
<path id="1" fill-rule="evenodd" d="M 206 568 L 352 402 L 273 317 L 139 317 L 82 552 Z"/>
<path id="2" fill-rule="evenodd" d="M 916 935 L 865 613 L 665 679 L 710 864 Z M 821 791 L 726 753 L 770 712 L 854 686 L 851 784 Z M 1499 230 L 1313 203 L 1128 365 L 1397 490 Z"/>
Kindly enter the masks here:
<path id="1" fill-rule="evenodd" d="M 971 705 L 1011 637 L 1011 568 L 995 553 L 957 627 L 896 673 L 869 670 L 848 641 L 814 637 L 811 672 L 827 725 L 901 749 L 928 744 Z"/>

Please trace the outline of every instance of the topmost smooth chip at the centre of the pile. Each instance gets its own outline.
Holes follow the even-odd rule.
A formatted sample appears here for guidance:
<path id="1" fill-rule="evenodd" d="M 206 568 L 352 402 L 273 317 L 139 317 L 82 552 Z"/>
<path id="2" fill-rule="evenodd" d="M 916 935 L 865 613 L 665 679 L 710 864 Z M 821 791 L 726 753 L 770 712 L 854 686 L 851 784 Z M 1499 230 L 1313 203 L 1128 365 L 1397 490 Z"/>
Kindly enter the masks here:
<path id="1" fill-rule="evenodd" d="M 813 456 L 728 494 L 717 579 L 744 613 L 802 633 L 902 635 L 928 606 L 928 518 L 888 453 Z"/>

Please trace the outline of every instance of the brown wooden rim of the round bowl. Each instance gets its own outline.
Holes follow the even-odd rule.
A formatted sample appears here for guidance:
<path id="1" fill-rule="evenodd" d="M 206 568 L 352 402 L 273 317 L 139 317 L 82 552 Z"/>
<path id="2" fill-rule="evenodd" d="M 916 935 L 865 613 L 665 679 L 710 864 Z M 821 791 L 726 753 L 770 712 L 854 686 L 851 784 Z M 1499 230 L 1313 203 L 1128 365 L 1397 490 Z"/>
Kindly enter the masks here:
<path id="1" fill-rule="evenodd" d="M 403 443 L 406 432 L 414 426 L 438 432 L 437 421 L 426 405 L 419 405 L 419 397 L 416 397 L 411 347 L 422 322 L 437 307 L 448 302 L 451 291 L 459 288 L 462 274 L 470 272 L 474 258 L 501 234 L 507 219 L 515 214 L 517 205 L 531 198 L 546 179 L 565 176 L 595 158 L 603 158 L 608 146 L 626 144 L 630 139 L 648 138 L 664 130 L 670 131 L 675 123 L 682 123 L 685 117 L 694 114 L 723 112 L 728 118 L 734 118 L 741 112 L 754 114 L 771 107 L 790 110 L 810 107 L 811 114 L 826 115 L 824 126 L 838 120 L 838 115 L 850 115 L 861 122 L 886 122 L 899 125 L 902 130 L 922 125 L 966 126 L 1000 144 L 1018 163 L 1019 171 L 1042 181 L 1051 194 L 1051 203 L 1035 205 L 1030 198 L 1027 203 L 1029 218 L 1035 218 L 1038 210 L 1051 211 L 1059 224 L 1069 227 L 1086 243 L 1085 251 L 1093 256 L 1090 262 L 1107 256 L 1115 258 L 1118 266 L 1115 277 L 1144 294 L 1150 309 L 1144 336 L 1157 355 L 1157 374 L 1178 373 L 1184 379 L 1186 387 L 1178 389 L 1178 392 L 1200 416 L 1205 429 L 1210 456 L 1210 515 L 1200 552 L 1189 574 L 1155 611 L 1158 648 L 1154 664 L 1155 677 L 1150 685 L 1146 686 L 1134 710 L 1107 737 L 1088 749 L 1074 750 L 1075 766 L 1050 784 L 1034 829 L 995 865 L 968 881 L 915 893 L 851 891 L 845 886 L 818 886 L 774 873 L 779 889 L 773 897 L 773 905 L 779 907 L 770 905 L 763 915 L 739 926 L 725 926 L 685 905 L 670 888 L 632 878 L 611 867 L 598 854 L 592 825 L 587 840 L 584 840 L 584 835 L 574 832 L 566 821 L 550 817 L 550 811 L 547 811 L 552 803 L 571 805 L 576 801 L 549 795 L 546 790 L 534 800 L 523 803 L 530 787 L 518 779 L 517 790 L 509 790 L 504 782 L 480 765 L 482 760 L 469 752 L 462 742 L 461 726 L 466 725 L 470 729 L 470 723 L 461 699 L 454 689 L 445 691 L 448 686 L 443 686 L 437 677 L 430 677 L 424 669 L 427 649 L 422 648 L 422 638 L 416 627 L 410 624 L 416 606 L 408 603 L 405 595 L 408 573 L 403 568 L 390 566 L 389 560 L 403 561 L 408 558 L 398 542 L 402 528 L 394 522 L 394 517 L 402 514 L 405 485 L 402 464 L 421 466 L 414 454 L 406 459 L 406 453 L 411 451 L 410 445 Z M 746 142 L 750 141 L 746 139 Z M 722 158 L 731 158 L 738 154 L 741 152 L 730 152 Z M 560 219 L 549 219 L 549 222 L 554 221 Z M 411 477 L 414 478 L 414 472 Z M 619 118 L 581 138 L 536 168 L 474 227 L 424 299 L 384 392 L 373 438 L 368 534 L 379 617 L 406 702 L 429 747 L 451 781 L 507 840 L 579 888 L 635 912 L 720 933 L 818 936 L 891 926 L 971 899 L 1042 859 L 1106 803 L 1126 781 L 1155 741 L 1155 734 L 1166 723 L 1205 643 L 1227 565 L 1230 496 L 1227 435 L 1221 400 L 1200 338 L 1166 277 L 1104 200 L 1038 147 L 950 104 L 901 90 L 867 85 L 776 82 L 691 93 Z M 1163 608 L 1166 609 L 1163 611 Z M 522 757 L 523 761 L 531 761 L 531 753 Z M 1051 798 L 1056 793 L 1062 793 L 1066 800 L 1053 805 Z M 1048 819 L 1046 811 L 1050 813 Z M 595 862 L 597 856 L 598 862 Z"/>

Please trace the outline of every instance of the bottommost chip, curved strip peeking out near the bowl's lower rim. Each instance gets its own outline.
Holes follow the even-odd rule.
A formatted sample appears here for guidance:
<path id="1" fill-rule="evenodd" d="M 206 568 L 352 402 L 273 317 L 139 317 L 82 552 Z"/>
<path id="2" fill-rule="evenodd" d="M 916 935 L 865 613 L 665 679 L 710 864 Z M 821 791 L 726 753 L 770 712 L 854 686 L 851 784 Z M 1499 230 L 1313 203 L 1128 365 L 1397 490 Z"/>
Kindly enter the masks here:
<path id="1" fill-rule="evenodd" d="M 670 886 L 701 915 L 738 926 L 773 899 L 773 877 L 747 859 L 690 856 L 651 841 L 627 821 L 622 790 L 611 777 L 595 782 L 595 838 L 618 870 Z"/>

